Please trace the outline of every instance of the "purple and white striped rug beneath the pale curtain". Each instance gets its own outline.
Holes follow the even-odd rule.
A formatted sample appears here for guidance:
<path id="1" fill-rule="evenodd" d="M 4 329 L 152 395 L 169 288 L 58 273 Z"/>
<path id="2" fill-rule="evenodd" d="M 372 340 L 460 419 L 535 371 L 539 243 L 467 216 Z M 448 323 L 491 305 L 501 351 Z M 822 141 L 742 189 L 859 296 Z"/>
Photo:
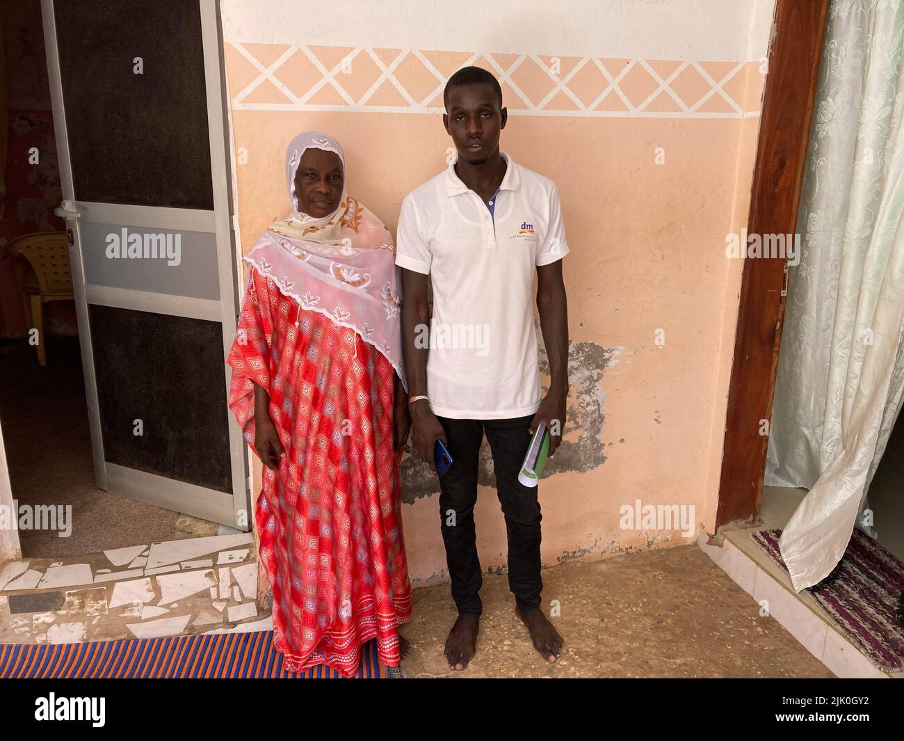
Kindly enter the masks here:
<path id="1" fill-rule="evenodd" d="M 778 550 L 781 530 L 759 530 L 750 537 L 787 571 Z M 833 625 L 882 670 L 904 667 L 904 628 L 898 619 L 904 591 L 904 564 L 862 530 L 832 574 L 806 590 Z"/>

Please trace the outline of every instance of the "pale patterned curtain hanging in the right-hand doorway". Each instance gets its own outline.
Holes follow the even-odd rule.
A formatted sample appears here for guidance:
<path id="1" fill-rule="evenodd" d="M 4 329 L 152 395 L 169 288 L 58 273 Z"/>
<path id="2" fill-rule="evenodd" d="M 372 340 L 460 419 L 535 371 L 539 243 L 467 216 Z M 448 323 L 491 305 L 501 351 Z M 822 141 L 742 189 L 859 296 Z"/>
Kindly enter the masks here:
<path id="1" fill-rule="evenodd" d="M 798 591 L 843 556 L 904 391 L 904 0 L 827 23 L 765 476 L 810 489 L 779 541 Z"/>

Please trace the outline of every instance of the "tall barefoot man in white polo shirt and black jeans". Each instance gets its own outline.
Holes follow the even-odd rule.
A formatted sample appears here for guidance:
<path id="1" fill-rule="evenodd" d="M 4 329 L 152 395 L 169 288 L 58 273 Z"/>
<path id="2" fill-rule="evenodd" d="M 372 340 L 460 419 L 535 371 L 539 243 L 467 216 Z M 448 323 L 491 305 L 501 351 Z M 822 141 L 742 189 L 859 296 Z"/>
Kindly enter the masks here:
<path id="1" fill-rule="evenodd" d="M 565 424 L 568 319 L 561 258 L 569 250 L 559 195 L 551 180 L 499 151 L 507 112 L 492 74 L 477 67 L 457 71 L 447 81 L 444 101 L 443 125 L 457 158 L 406 196 L 396 264 L 403 269 L 401 324 L 413 444 L 433 470 L 437 439 L 453 459 L 439 477 L 441 528 L 458 609 L 446 657 L 450 667 L 463 670 L 476 651 L 483 580 L 474 506 L 486 433 L 516 613 L 537 651 L 555 661 L 563 641 L 541 610 L 537 489 L 523 486 L 518 471 L 538 425 L 551 431 L 551 455 Z M 551 375 L 542 398 L 531 306 L 534 269 Z"/>

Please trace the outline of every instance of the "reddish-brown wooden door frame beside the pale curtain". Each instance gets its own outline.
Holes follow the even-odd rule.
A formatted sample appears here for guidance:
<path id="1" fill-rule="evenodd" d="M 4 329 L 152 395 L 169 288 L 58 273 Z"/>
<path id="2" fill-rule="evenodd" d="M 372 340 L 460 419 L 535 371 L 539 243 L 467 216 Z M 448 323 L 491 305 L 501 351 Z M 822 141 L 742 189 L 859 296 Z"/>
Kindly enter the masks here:
<path id="1" fill-rule="evenodd" d="M 829 0 L 777 0 L 748 234 L 797 231 Z M 746 249 L 746 244 L 742 249 Z M 744 260 L 715 527 L 758 515 L 778 366 L 786 260 Z"/>

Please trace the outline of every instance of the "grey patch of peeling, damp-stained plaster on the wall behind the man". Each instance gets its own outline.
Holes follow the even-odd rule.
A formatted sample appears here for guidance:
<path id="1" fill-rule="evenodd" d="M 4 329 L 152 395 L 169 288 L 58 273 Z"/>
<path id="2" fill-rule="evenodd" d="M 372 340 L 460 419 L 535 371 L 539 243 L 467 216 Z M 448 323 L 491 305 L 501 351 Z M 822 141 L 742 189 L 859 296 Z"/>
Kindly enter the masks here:
<path id="1" fill-rule="evenodd" d="M 537 329 L 538 338 L 541 337 Z M 550 365 L 540 346 L 540 372 L 549 383 Z M 602 388 L 603 374 L 611 366 L 620 348 L 607 348 L 595 342 L 569 341 L 569 383 L 568 416 L 562 430 L 562 442 L 556 454 L 546 463 L 543 478 L 565 471 L 585 473 L 601 466 L 606 461 L 603 442 L 599 439 L 606 416 L 603 410 L 606 392 Z M 426 463 L 414 454 L 410 442 L 406 445 L 409 455 L 401 461 L 401 498 L 406 504 L 414 504 L 421 497 L 428 497 L 439 491 L 439 480 Z M 453 455 L 455 453 L 453 452 Z M 480 448 L 480 462 L 477 482 L 481 486 L 495 488 L 493 457 L 486 440 Z"/>

